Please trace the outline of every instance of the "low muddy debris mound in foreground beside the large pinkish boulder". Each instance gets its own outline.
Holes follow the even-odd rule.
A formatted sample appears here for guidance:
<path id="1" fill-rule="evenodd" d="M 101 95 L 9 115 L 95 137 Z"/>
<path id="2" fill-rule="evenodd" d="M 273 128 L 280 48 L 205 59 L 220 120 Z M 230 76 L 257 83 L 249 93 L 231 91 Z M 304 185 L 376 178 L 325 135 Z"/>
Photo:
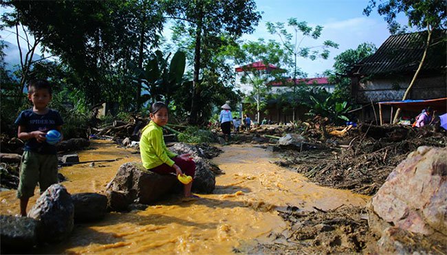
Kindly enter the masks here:
<path id="1" fill-rule="evenodd" d="M 366 252 L 375 236 L 369 231 L 364 208 L 342 206 L 314 212 L 287 206 L 279 215 L 287 222 L 281 233 L 270 233 L 271 243 L 241 247 L 249 254 L 321 254 Z"/>

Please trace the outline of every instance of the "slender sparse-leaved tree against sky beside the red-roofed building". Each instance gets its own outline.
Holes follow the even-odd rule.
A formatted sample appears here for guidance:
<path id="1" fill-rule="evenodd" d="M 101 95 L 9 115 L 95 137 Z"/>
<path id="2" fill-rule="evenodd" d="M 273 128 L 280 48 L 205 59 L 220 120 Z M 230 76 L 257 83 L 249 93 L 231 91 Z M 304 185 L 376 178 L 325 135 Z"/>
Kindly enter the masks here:
<path id="1" fill-rule="evenodd" d="M 326 40 L 322 45 L 314 45 L 307 46 L 303 45 L 305 38 L 312 38 L 317 40 L 321 36 L 321 32 L 323 31 L 323 27 L 320 25 L 316 25 L 315 27 L 310 27 L 307 25 L 307 22 L 300 21 L 296 18 L 290 18 L 287 21 L 287 26 L 291 27 L 293 30 L 293 34 L 287 32 L 285 25 L 283 22 L 271 23 L 267 22 L 267 30 L 270 34 L 276 34 L 281 39 L 283 43 L 283 47 L 286 49 L 289 56 L 288 65 L 292 67 L 292 84 L 293 87 L 293 99 L 292 99 L 292 108 L 293 108 L 293 120 L 295 121 L 295 108 L 296 108 L 296 78 L 300 75 L 303 75 L 301 70 L 298 68 L 297 60 L 300 58 L 309 58 L 311 60 L 315 60 L 316 58 L 327 59 L 329 57 L 329 48 L 334 47 L 338 48 L 338 44 L 333 41 Z M 299 37 L 299 38 L 298 38 Z M 320 52 L 320 49 L 321 52 Z"/>

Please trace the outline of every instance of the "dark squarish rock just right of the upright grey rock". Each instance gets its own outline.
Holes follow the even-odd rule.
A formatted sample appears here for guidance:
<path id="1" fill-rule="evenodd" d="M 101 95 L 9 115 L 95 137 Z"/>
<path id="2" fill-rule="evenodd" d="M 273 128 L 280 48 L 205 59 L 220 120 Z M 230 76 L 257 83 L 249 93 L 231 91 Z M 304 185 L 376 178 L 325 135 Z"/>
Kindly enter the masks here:
<path id="1" fill-rule="evenodd" d="M 98 193 L 78 193 L 72 195 L 74 204 L 74 221 L 97 221 L 105 217 L 107 197 Z"/>

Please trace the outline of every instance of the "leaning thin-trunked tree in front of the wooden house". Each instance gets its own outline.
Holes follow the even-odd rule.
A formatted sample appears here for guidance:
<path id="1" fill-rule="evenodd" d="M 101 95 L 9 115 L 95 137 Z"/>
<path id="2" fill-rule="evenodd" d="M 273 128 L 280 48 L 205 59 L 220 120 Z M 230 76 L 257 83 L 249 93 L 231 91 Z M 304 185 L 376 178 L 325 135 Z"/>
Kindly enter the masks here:
<path id="1" fill-rule="evenodd" d="M 379 4 L 378 4 L 379 3 Z M 400 31 L 402 27 L 397 21 L 397 14 L 401 12 L 408 18 L 408 25 L 417 28 L 417 30 L 426 30 L 426 41 L 424 42 L 424 53 L 422 54 L 421 61 L 417 70 L 411 80 L 408 88 L 406 89 L 402 100 L 406 100 L 408 94 L 413 87 L 415 80 L 424 65 L 428 49 L 433 44 L 431 36 L 435 30 L 445 29 L 447 25 L 447 8 L 445 1 L 439 0 L 369 0 L 369 4 L 363 10 L 363 13 L 367 16 L 371 14 L 372 10 L 377 6 L 378 13 L 384 15 L 384 20 L 389 25 L 389 30 L 393 34 Z M 445 40 L 445 36 L 443 40 Z M 400 116 L 400 109 L 397 109 L 393 122 L 397 122 Z"/>

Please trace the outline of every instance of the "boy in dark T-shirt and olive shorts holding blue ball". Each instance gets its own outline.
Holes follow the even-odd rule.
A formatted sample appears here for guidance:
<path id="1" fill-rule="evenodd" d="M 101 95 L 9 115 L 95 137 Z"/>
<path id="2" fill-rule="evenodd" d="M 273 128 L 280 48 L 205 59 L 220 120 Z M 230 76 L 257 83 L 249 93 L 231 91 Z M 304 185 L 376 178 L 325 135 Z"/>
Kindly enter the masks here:
<path id="1" fill-rule="evenodd" d="M 19 126 L 17 136 L 26 140 L 20 168 L 17 198 L 20 214 L 26 216 L 28 200 L 34 195 L 39 182 L 41 193 L 58 182 L 56 146 L 45 142 L 47 131 L 61 132 L 63 120 L 58 111 L 47 107 L 52 99 L 52 89 L 47 80 L 32 80 L 28 86 L 28 99 L 33 107 L 22 111 L 15 121 Z"/>

